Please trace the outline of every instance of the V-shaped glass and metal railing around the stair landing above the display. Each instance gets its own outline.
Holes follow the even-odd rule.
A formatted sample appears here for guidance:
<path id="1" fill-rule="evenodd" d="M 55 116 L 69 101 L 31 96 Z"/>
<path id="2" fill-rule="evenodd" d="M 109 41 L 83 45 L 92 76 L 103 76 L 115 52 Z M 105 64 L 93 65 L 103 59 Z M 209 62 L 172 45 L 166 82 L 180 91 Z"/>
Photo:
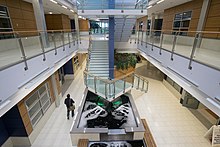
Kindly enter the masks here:
<path id="1" fill-rule="evenodd" d="M 148 81 L 135 73 L 126 74 L 114 80 L 102 79 L 98 76 L 84 71 L 84 83 L 90 91 L 111 101 L 114 98 L 126 93 L 131 88 L 136 88 L 141 91 L 148 91 Z"/>

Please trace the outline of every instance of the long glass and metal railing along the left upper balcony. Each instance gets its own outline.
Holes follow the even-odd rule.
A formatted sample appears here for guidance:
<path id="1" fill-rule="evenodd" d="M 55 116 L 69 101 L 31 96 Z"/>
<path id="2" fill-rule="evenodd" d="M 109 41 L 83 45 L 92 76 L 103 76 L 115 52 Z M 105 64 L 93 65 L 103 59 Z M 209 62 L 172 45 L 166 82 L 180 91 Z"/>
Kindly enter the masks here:
<path id="1" fill-rule="evenodd" d="M 28 70 L 27 60 L 42 55 L 46 60 L 46 53 L 68 45 L 75 46 L 79 40 L 76 30 L 48 30 L 48 31 L 15 31 L 0 32 L 0 70 L 20 62 L 24 62 Z"/>

